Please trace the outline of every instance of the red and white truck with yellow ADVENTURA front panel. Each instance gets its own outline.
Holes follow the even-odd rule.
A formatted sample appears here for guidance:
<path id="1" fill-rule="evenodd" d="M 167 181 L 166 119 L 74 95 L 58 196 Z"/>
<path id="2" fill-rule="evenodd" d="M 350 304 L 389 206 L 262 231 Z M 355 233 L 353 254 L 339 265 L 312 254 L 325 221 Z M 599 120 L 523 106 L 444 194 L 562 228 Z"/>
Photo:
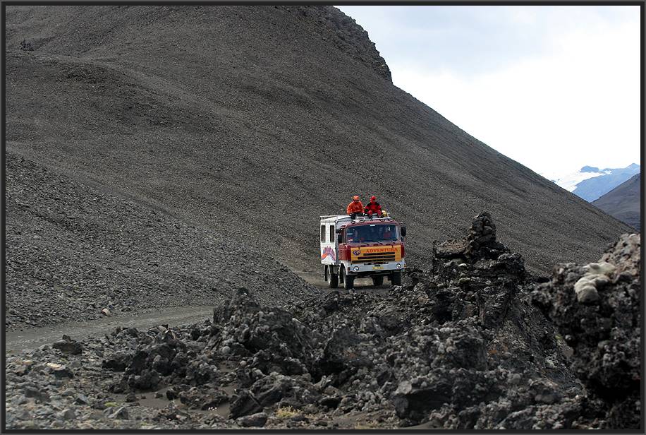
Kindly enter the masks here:
<path id="1" fill-rule="evenodd" d="M 406 226 L 391 217 L 321 216 L 321 263 L 331 288 L 354 287 L 355 278 L 372 278 L 375 286 L 388 278 L 401 285 L 406 268 Z"/>

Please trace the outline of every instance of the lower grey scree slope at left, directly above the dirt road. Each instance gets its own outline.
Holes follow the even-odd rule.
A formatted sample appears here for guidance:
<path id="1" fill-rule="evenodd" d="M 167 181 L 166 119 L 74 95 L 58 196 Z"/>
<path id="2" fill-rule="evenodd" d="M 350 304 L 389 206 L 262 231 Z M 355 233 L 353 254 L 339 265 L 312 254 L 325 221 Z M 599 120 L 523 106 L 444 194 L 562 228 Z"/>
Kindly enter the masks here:
<path id="1" fill-rule="evenodd" d="M 5 328 L 318 290 L 255 249 L 5 153 Z"/>

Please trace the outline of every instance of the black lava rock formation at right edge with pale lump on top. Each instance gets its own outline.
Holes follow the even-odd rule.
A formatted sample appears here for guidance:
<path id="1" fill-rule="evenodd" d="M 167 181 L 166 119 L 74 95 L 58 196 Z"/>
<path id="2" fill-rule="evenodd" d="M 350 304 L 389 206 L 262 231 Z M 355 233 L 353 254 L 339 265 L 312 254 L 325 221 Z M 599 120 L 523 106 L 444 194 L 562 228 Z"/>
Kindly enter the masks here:
<path id="1" fill-rule="evenodd" d="M 623 234 L 598 263 L 559 264 L 533 292 L 573 348 L 571 368 L 603 429 L 640 423 L 640 246 L 639 234 Z"/>

